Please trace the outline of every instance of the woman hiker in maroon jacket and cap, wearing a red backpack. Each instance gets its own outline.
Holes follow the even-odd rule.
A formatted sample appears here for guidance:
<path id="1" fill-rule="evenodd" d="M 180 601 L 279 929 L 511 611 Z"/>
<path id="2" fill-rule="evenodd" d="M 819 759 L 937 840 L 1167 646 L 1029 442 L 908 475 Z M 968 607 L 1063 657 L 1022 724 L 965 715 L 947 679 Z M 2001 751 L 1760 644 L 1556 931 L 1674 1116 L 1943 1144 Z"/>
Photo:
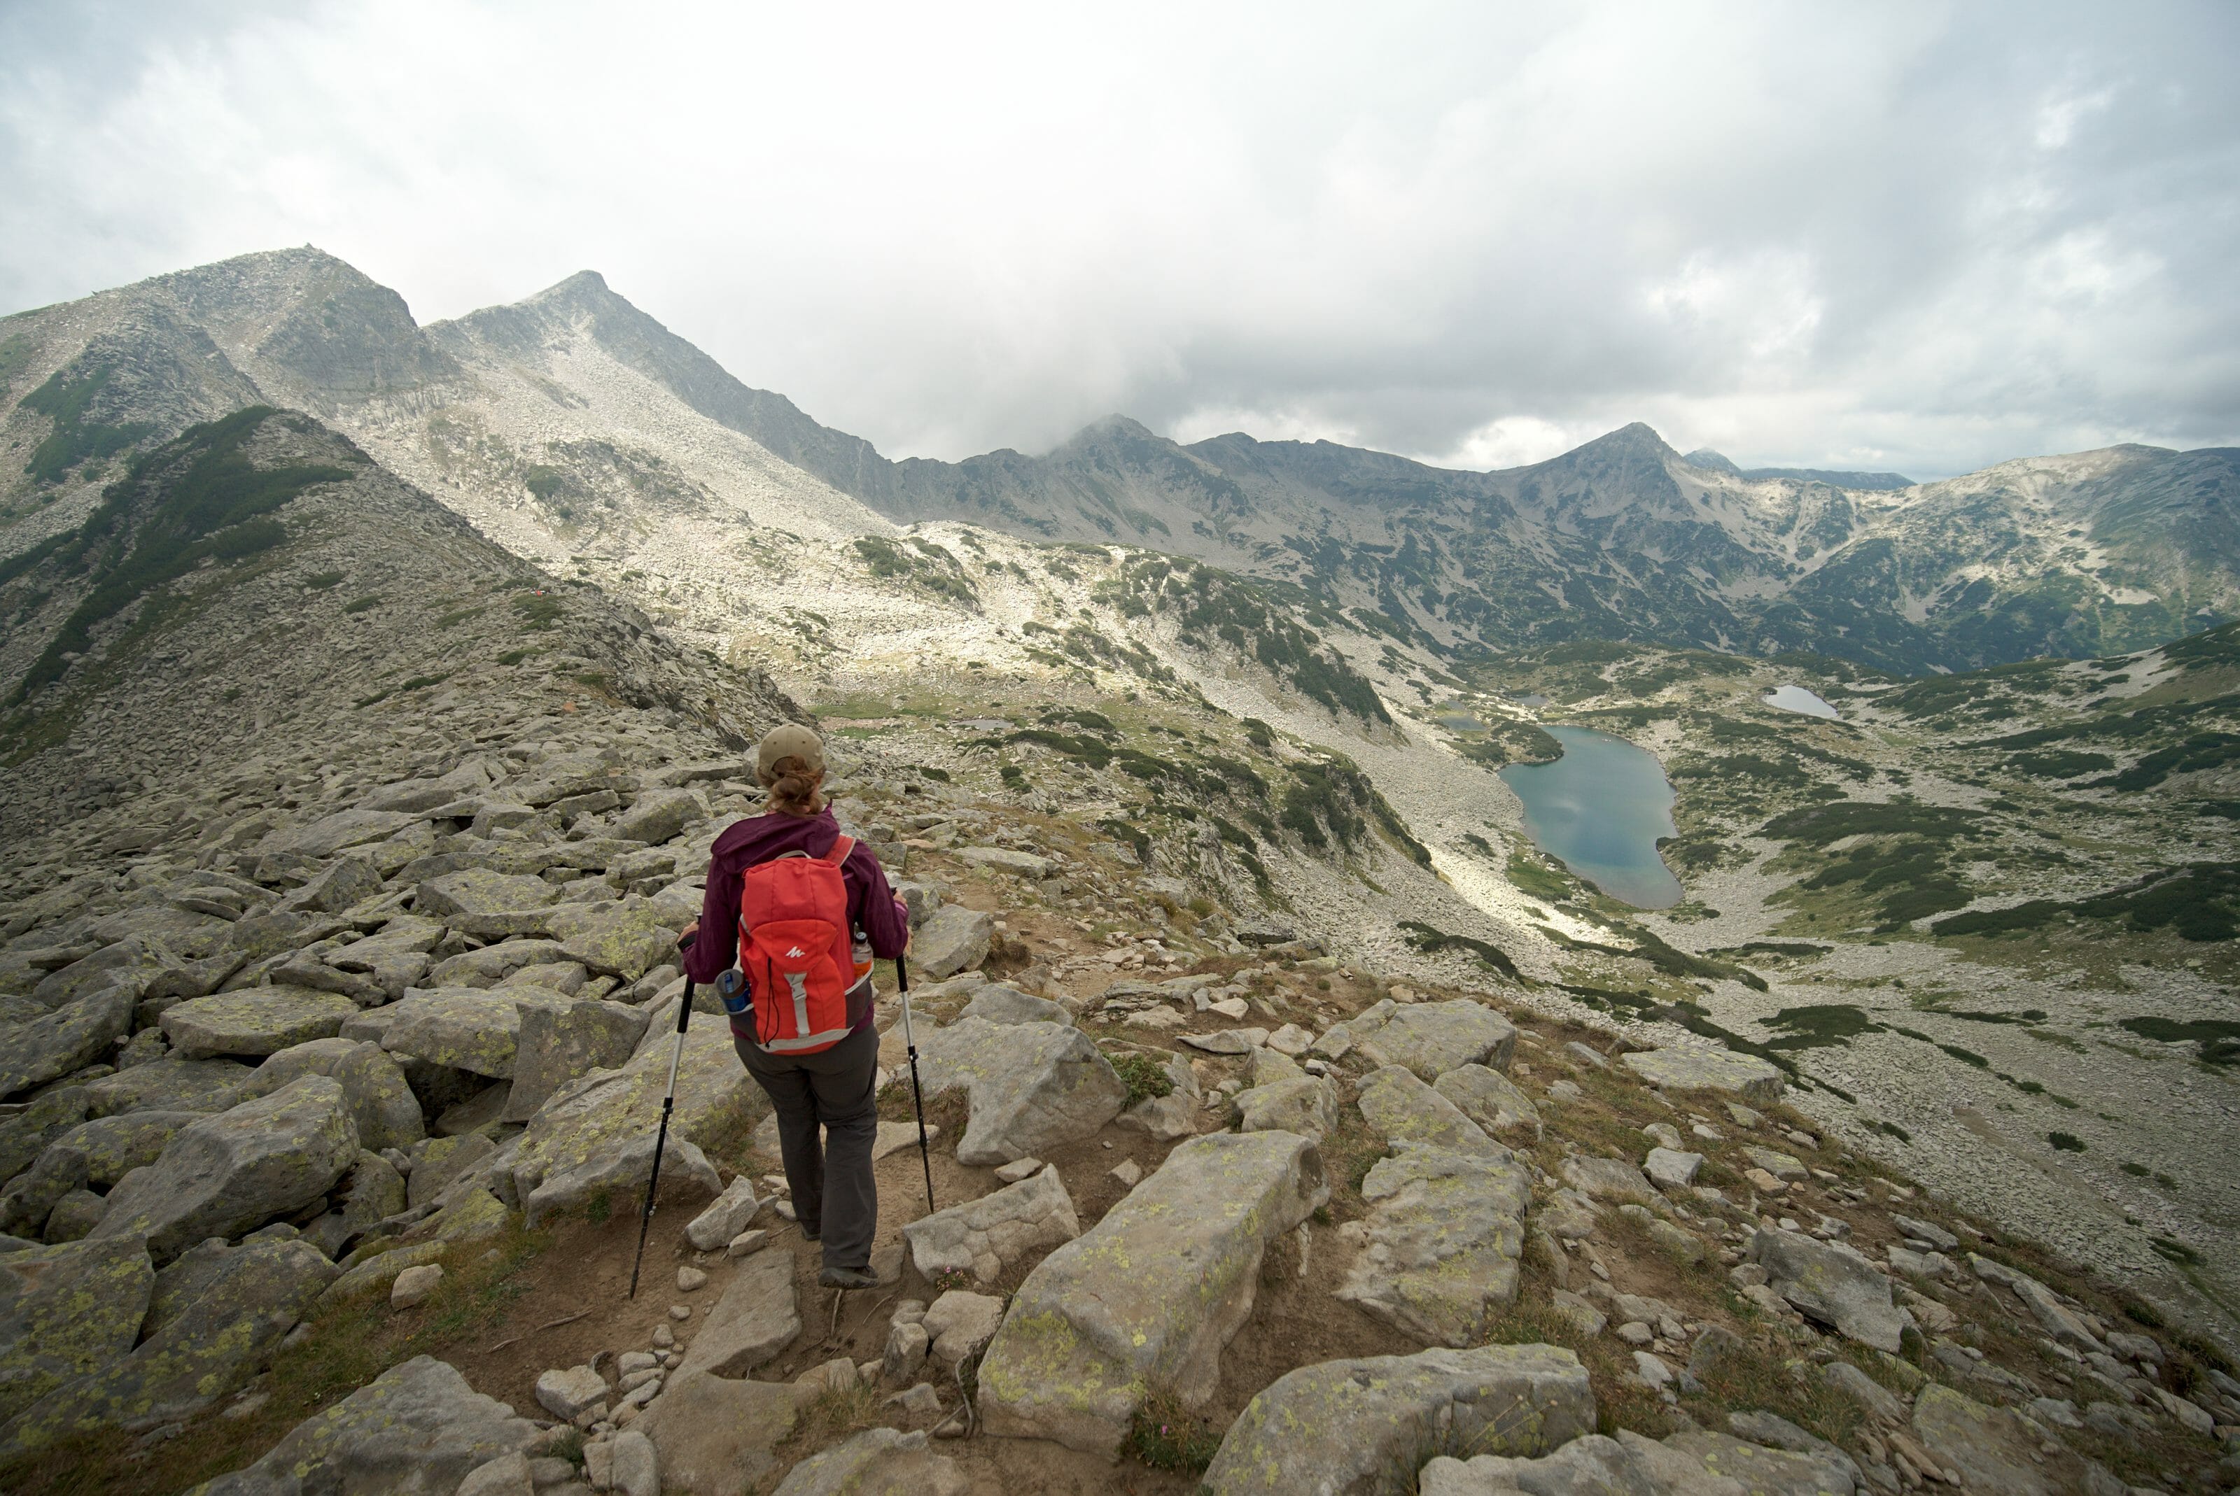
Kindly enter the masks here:
<path id="1" fill-rule="evenodd" d="M 793 1218 L 824 1245 L 827 1288 L 871 1288 L 871 956 L 907 950 L 909 909 L 878 858 L 840 835 L 815 732 L 773 728 L 755 752 L 755 777 L 771 808 L 715 840 L 701 916 L 679 936 L 685 976 L 715 981 L 732 961 L 746 972 L 748 990 L 724 1008 L 739 1062 L 777 1109 Z"/>

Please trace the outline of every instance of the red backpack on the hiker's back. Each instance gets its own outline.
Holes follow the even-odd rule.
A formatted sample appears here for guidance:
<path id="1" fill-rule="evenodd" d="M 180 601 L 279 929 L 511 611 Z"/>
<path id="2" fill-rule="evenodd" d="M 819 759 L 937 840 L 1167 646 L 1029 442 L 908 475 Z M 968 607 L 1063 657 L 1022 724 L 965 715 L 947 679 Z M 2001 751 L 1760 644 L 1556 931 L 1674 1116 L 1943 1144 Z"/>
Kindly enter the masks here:
<path id="1" fill-rule="evenodd" d="M 847 994 L 869 976 L 856 965 L 840 838 L 822 858 L 788 851 L 746 869 L 739 891 L 739 970 L 755 1001 L 755 1044 L 815 1055 L 849 1035 Z"/>

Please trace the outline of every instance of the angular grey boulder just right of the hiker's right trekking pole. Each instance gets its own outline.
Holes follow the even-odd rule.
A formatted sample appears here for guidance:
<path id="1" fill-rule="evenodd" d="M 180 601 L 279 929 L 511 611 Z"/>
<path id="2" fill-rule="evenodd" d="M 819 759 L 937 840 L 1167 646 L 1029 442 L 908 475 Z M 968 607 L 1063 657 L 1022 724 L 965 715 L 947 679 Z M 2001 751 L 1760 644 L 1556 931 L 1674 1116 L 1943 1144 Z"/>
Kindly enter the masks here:
<path id="1" fill-rule="evenodd" d="M 1089 1035 L 1062 1023 L 959 1019 L 923 1037 L 925 1095 L 963 1088 L 961 1165 L 1006 1165 L 1095 1135 L 1127 1104 L 1127 1082 Z"/>

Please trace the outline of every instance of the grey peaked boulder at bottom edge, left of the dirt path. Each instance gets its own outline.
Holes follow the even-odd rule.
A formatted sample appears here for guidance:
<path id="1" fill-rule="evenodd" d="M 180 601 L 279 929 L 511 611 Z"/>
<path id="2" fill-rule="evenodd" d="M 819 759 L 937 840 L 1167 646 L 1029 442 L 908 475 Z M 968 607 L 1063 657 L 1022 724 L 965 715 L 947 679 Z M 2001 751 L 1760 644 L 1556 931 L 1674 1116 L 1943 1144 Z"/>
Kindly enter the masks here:
<path id="1" fill-rule="evenodd" d="M 482 1465 L 542 1440 L 542 1429 L 477 1393 L 450 1364 L 417 1355 L 195 1496 L 450 1496 Z"/>

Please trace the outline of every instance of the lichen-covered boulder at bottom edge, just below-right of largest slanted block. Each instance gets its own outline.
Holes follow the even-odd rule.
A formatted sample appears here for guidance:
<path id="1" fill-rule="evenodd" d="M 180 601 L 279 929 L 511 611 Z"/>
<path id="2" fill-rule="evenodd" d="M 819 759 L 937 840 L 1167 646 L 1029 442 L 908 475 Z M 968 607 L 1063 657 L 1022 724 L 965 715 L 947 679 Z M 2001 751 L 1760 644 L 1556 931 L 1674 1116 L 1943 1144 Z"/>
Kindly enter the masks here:
<path id="1" fill-rule="evenodd" d="M 1425 1449 L 1537 1456 L 1593 1431 L 1586 1366 L 1561 1346 L 1322 1362 L 1277 1377 L 1245 1404 L 1205 1469 L 1205 1489 L 1387 1496 L 1413 1489 Z"/>

